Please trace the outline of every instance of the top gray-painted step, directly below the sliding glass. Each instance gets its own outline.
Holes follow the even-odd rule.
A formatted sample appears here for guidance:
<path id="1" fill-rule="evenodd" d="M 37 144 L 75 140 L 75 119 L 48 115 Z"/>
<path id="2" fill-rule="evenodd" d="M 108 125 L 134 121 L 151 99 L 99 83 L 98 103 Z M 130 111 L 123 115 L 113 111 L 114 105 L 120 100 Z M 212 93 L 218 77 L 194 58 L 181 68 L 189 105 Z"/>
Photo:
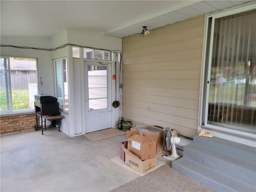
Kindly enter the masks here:
<path id="1" fill-rule="evenodd" d="M 226 154 L 238 156 L 238 157 L 246 157 L 247 161 L 256 162 L 256 148 L 244 144 L 240 144 L 237 142 L 225 140 L 218 137 L 202 137 L 202 136 L 194 136 L 193 143 L 209 147 L 211 149 L 215 149 Z"/>

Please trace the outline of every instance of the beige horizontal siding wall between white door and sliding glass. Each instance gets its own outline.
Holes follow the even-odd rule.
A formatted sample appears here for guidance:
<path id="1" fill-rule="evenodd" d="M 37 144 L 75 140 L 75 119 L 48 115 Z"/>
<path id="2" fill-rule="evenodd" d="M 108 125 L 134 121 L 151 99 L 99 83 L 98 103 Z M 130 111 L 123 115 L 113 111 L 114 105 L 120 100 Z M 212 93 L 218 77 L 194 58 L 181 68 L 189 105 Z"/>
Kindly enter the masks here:
<path id="1" fill-rule="evenodd" d="M 123 38 L 123 118 L 197 134 L 203 36 L 200 16 Z"/>

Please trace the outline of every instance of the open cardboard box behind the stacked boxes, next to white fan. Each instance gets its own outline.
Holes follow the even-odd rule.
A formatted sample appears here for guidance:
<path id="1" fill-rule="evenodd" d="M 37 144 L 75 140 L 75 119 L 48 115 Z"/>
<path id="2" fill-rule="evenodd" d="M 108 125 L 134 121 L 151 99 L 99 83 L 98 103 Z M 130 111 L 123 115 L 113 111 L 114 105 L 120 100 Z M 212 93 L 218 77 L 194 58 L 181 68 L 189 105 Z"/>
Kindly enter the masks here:
<path id="1" fill-rule="evenodd" d="M 162 154 L 164 151 L 164 131 L 161 128 L 152 126 L 152 125 L 144 125 L 144 126 L 138 126 L 131 128 L 131 130 L 139 130 L 140 134 L 143 134 L 144 131 L 151 131 L 151 132 L 157 132 L 158 133 L 158 139 L 156 141 L 156 154 Z"/>

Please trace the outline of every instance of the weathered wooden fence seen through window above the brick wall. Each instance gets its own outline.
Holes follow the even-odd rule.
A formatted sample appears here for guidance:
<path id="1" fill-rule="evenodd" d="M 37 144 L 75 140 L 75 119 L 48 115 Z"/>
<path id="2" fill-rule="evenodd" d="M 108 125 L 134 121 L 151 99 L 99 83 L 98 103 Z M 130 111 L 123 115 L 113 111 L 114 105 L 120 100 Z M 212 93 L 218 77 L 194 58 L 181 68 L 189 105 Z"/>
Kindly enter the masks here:
<path id="1" fill-rule="evenodd" d="M 5 74 L 0 74 L 0 89 L 5 89 Z M 28 89 L 29 83 L 37 83 L 37 77 L 34 74 L 11 74 L 12 90 Z"/>

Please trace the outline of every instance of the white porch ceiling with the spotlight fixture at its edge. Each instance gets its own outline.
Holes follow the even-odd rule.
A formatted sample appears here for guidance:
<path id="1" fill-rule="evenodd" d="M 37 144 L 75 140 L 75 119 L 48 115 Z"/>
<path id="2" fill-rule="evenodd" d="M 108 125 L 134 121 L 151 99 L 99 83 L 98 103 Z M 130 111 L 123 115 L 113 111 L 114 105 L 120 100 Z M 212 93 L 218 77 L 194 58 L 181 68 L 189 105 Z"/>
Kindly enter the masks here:
<path id="1" fill-rule="evenodd" d="M 246 0 L 0 1 L 1 36 L 51 37 L 66 29 L 125 37 L 244 4 Z"/>

